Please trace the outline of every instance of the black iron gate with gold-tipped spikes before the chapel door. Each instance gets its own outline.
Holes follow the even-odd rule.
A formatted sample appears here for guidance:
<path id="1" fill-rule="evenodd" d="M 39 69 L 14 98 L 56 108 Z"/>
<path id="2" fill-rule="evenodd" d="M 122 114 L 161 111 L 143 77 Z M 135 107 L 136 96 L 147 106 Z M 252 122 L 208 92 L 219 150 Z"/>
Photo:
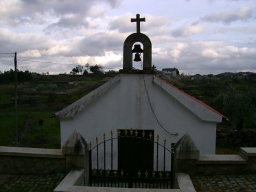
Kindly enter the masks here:
<path id="1" fill-rule="evenodd" d="M 156 141 L 154 141 L 154 136 L 152 133 L 146 134 L 144 130 L 139 132 L 139 130 L 118 130 L 118 136 L 113 137 L 113 132 L 110 132 L 110 139 L 106 139 L 106 135 L 103 135 L 103 141 L 99 143 L 96 138 L 96 145 L 91 147 L 89 145 L 89 184 L 91 187 L 135 187 L 135 188 L 153 188 L 153 189 L 173 189 L 174 186 L 174 143 L 172 143 L 171 148 L 167 149 L 166 140 L 163 141 L 163 145 L 159 143 L 159 136 L 156 136 Z M 155 145 L 156 148 L 156 159 L 155 159 L 155 170 L 154 169 L 138 169 L 135 173 L 134 171 L 129 171 L 129 169 L 123 169 L 120 167 L 118 169 L 113 169 L 113 141 L 121 141 L 122 139 L 137 139 L 141 141 L 148 141 Z M 153 139 L 152 139 L 153 138 Z M 110 143 L 108 143 L 110 142 Z M 106 143 L 110 146 L 110 154 L 106 159 Z M 100 147 L 103 155 L 101 154 L 101 159 L 103 160 L 102 166 L 100 166 Z M 160 151 L 163 154 L 160 154 Z M 95 167 L 92 166 L 92 156 L 95 156 Z M 166 154 L 170 154 L 170 158 L 165 160 Z M 163 155 L 163 166 L 161 170 L 159 169 L 159 156 Z M 108 163 L 109 169 L 106 169 L 106 164 Z M 170 163 L 171 171 L 165 170 L 165 165 Z"/>

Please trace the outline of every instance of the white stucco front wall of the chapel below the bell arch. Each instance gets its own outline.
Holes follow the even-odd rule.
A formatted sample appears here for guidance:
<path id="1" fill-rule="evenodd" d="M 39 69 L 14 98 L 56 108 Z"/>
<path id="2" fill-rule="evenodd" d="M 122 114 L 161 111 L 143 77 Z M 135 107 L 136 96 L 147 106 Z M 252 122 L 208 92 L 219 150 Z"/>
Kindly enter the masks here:
<path id="1" fill-rule="evenodd" d="M 159 143 L 163 144 L 163 140 L 166 139 L 167 146 L 176 143 L 181 136 L 189 132 L 200 149 L 200 154 L 214 154 L 216 123 L 202 121 L 171 95 L 153 84 L 153 75 L 144 75 L 144 77 L 159 121 L 169 132 L 178 132 L 178 136 L 167 134 L 154 119 L 148 103 L 143 75 L 120 74 L 120 82 L 95 99 L 82 112 L 73 118 L 61 119 L 61 145 L 75 129 L 94 146 L 95 138 L 98 137 L 102 141 L 103 133 L 106 133 L 106 139 L 109 139 L 111 130 L 114 136 L 117 136 L 117 129 L 137 128 L 154 130 L 155 140 L 156 135 L 159 134 Z M 114 156 L 116 158 L 117 154 Z"/>

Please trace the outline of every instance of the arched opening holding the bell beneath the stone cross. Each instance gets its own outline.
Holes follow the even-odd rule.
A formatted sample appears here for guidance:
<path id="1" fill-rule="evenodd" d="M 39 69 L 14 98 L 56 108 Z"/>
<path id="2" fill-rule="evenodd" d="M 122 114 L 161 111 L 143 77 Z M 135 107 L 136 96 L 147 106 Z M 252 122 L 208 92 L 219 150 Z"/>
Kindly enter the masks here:
<path id="1" fill-rule="evenodd" d="M 143 44 L 140 42 L 132 45 L 132 67 L 143 69 Z"/>

